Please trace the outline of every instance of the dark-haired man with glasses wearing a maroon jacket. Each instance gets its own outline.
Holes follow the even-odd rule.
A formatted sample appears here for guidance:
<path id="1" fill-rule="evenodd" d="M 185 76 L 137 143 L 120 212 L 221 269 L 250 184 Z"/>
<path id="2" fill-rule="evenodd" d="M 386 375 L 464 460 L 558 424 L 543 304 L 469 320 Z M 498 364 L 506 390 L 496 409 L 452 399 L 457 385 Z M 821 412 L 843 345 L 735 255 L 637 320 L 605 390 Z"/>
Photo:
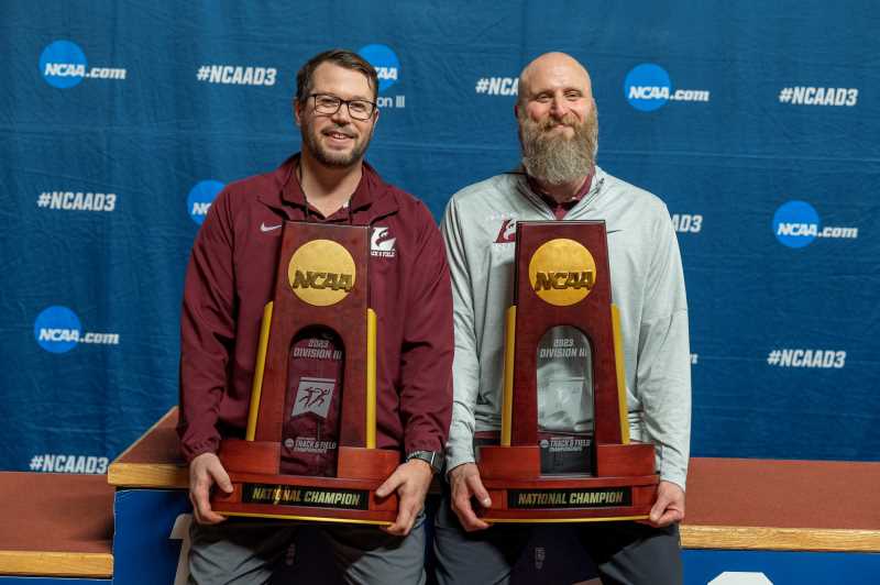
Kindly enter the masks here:
<path id="1" fill-rule="evenodd" d="M 377 88 L 375 69 L 354 53 L 312 57 L 297 74 L 294 101 L 301 152 L 272 173 L 227 186 L 196 238 L 182 316 L 178 428 L 197 520 L 191 582 L 266 582 L 297 529 L 227 520 L 209 503 L 211 488 L 232 489 L 216 452 L 221 438 L 244 433 L 263 307 L 272 299 L 282 227 L 292 220 L 371 227 L 370 305 L 380 331 L 376 443 L 400 451 L 403 460 L 376 492 L 397 493 L 393 525 L 384 532 L 355 525 L 323 525 L 321 531 L 348 583 L 425 582 L 421 508 L 449 429 L 452 300 L 430 212 L 364 162 L 378 120 Z M 344 350 L 329 339 L 296 343 L 333 350 L 295 358 L 302 376 L 333 369 L 323 362 Z M 285 434 L 307 437 L 315 422 L 293 419 Z M 284 441 L 283 466 L 322 468 L 332 454 L 316 453 L 315 445 L 333 443 L 328 432 L 318 433 L 320 441 Z"/>

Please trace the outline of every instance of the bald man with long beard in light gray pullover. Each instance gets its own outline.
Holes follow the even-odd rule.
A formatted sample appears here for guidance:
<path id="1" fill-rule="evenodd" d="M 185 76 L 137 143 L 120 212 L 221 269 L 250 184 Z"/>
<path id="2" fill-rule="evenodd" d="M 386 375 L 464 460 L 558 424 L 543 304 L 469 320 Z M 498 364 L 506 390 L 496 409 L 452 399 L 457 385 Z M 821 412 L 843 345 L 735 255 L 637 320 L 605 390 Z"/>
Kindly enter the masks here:
<path id="1" fill-rule="evenodd" d="M 612 295 L 622 313 L 630 435 L 656 445 L 660 485 L 647 522 L 586 522 L 579 538 L 603 583 L 681 583 L 678 523 L 684 518 L 691 378 L 684 278 L 669 211 L 656 196 L 596 166 L 590 74 L 571 56 L 548 53 L 531 62 L 520 75 L 514 112 L 521 167 L 455 194 L 441 225 L 453 284 L 455 356 L 437 578 L 443 585 L 508 583 L 530 536 L 527 526 L 490 526 L 476 514 L 491 505 L 474 438 L 501 429 L 516 222 L 604 220 Z M 547 394 L 542 400 L 539 430 L 592 428 L 588 405 L 553 408 Z"/>

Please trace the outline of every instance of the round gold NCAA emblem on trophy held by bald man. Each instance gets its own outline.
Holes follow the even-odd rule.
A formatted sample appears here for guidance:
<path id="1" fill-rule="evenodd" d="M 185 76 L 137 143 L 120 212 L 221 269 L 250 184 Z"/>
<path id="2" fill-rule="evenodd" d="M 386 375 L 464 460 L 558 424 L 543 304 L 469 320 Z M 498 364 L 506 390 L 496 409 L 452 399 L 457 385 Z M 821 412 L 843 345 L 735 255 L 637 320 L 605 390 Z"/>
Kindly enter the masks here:
<path id="1" fill-rule="evenodd" d="M 541 300 L 568 307 L 586 298 L 596 283 L 596 261 L 582 244 L 566 238 L 541 244 L 529 261 L 529 282 Z"/>

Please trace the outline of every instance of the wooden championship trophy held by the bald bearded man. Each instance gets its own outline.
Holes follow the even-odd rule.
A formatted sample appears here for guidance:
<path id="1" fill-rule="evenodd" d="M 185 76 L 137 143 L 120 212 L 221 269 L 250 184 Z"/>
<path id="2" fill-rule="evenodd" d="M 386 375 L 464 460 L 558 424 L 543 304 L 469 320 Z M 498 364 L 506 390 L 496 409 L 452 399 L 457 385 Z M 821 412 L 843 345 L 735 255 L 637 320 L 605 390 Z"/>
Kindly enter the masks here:
<path id="1" fill-rule="evenodd" d="M 604 221 L 517 224 L 501 444 L 477 439 L 490 522 L 647 518 L 654 449 L 629 440 Z M 540 427 L 539 427 L 540 420 Z"/>

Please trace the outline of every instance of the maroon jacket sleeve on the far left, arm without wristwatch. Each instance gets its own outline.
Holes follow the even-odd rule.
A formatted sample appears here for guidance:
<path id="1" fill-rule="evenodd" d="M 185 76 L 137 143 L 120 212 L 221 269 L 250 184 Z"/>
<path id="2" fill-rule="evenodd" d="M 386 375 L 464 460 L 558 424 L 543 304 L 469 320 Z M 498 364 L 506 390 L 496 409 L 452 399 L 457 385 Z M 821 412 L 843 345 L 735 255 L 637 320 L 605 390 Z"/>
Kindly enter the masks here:
<path id="1" fill-rule="evenodd" d="M 217 452 L 220 444 L 216 423 L 235 331 L 232 242 L 229 194 L 223 190 L 193 244 L 184 284 L 177 433 L 187 462 Z"/>

